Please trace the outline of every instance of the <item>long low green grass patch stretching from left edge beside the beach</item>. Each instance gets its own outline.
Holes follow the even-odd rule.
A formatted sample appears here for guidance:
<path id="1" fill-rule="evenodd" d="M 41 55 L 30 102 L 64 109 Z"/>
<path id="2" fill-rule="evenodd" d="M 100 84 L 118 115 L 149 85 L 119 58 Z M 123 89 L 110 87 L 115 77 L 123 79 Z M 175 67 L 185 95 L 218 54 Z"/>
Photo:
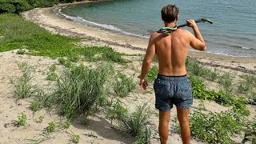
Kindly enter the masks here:
<path id="1" fill-rule="evenodd" d="M 127 62 L 121 57 L 124 54 L 115 52 L 109 46 L 77 46 L 75 42 L 79 42 L 79 38 L 50 34 L 42 27 L 15 14 L 0 15 L 0 30 L 0 52 L 20 49 L 18 54 L 66 57 L 71 62 L 78 62 L 81 56 L 89 62 Z M 65 62 L 66 60 L 62 59 L 62 63 Z"/>

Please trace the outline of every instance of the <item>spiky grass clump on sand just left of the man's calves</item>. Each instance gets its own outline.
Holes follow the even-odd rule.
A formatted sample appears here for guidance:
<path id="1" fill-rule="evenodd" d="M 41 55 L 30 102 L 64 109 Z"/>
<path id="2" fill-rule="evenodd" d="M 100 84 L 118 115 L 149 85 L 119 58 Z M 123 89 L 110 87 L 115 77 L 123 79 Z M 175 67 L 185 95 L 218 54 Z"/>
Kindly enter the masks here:
<path id="1" fill-rule="evenodd" d="M 121 120 L 122 127 L 133 136 L 141 134 L 150 121 L 150 110 L 146 103 L 137 106 L 132 114 L 124 116 Z"/>

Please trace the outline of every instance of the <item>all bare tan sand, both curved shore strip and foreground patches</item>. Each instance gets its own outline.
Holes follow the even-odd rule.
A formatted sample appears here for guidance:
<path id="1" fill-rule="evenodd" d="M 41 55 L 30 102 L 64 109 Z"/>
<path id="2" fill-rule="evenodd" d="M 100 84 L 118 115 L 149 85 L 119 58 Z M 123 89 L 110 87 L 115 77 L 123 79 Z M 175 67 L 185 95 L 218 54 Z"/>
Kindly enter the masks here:
<path id="1" fill-rule="evenodd" d="M 58 6 L 69 5 L 70 4 Z M 26 18 L 28 21 L 37 23 L 39 26 L 44 27 L 54 34 L 82 38 L 82 41 L 78 42 L 78 45 L 111 46 L 114 50 L 120 53 L 145 54 L 148 39 L 82 25 L 78 22 L 54 14 L 54 9 L 56 7 L 57 6 L 29 10 L 22 13 L 22 17 Z M 41 138 L 40 134 L 42 134 L 43 128 L 46 127 L 49 122 L 60 120 L 57 115 L 48 114 L 46 110 L 40 110 L 35 115 L 32 114 L 31 110 L 29 110 L 30 100 L 26 99 L 16 103 L 13 98 L 14 86 L 10 84 L 9 78 L 17 77 L 21 74 L 21 71 L 18 70 L 18 62 L 27 62 L 30 66 L 35 67 L 35 78 L 33 79 L 33 82 L 40 83 L 40 86 L 46 86 L 48 85 L 48 82 L 42 79 L 46 79 L 46 71 L 52 64 L 58 65 L 58 60 L 26 54 L 18 55 L 16 54 L 16 50 L 2 52 L 0 55 L 0 144 L 30 143 L 26 141 L 26 139 Z M 217 67 L 222 71 L 232 71 L 238 74 L 256 74 L 256 58 L 231 57 L 220 54 L 207 54 L 198 51 L 190 51 L 189 57 L 201 62 L 204 66 Z M 141 69 L 141 62 L 134 62 L 133 66 L 136 70 L 127 68 L 127 71 L 129 71 L 130 74 L 138 76 L 138 71 Z M 58 66 L 58 68 L 62 69 L 61 66 Z M 159 143 L 158 111 L 154 109 L 154 93 L 144 94 L 142 90 L 139 90 L 138 88 L 136 94 L 130 94 L 129 97 L 123 98 L 122 102 L 126 103 L 126 106 L 129 106 L 131 109 L 136 103 L 148 102 L 150 109 L 154 111 L 154 114 L 152 114 L 150 118 L 150 129 L 152 130 L 151 142 L 153 144 Z M 200 103 L 200 100 L 195 99 L 191 110 L 198 110 Z M 221 106 L 216 102 L 210 101 L 206 101 L 205 106 L 206 110 L 212 112 L 230 110 L 230 107 Z M 247 108 L 251 113 L 249 118 L 254 118 L 256 115 L 256 106 L 248 106 Z M 29 125 L 26 127 L 13 126 L 14 120 L 17 119 L 17 115 L 22 112 L 27 114 Z M 171 111 L 172 119 L 170 121 L 169 143 L 182 144 L 180 135 L 175 130 L 176 124 L 173 116 L 176 114 L 176 110 L 173 109 Z M 40 115 L 44 115 L 43 122 L 35 122 L 35 119 Z M 53 134 L 52 138 L 47 139 L 42 143 L 67 143 L 72 134 L 80 135 L 80 143 L 131 144 L 135 142 L 135 138 L 131 137 L 129 134 L 111 128 L 110 122 L 107 121 L 102 114 L 90 118 L 91 122 L 88 126 L 82 126 L 81 119 L 82 117 L 75 118 L 69 130 L 66 132 L 58 131 Z M 235 135 L 233 140 L 235 142 L 242 142 L 242 137 L 241 135 Z M 193 138 L 191 143 L 200 144 L 204 142 Z"/>

